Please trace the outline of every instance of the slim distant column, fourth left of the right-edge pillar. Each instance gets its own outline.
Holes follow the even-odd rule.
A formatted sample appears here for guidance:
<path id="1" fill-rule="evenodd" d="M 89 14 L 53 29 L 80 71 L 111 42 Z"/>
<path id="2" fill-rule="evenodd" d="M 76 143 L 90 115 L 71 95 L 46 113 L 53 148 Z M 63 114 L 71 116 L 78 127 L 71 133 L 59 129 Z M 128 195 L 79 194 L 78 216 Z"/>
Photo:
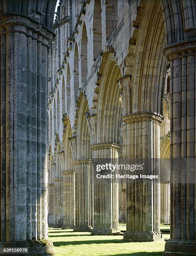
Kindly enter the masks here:
<path id="1" fill-rule="evenodd" d="M 64 223 L 63 229 L 75 226 L 75 172 L 66 170 L 63 174 Z"/>

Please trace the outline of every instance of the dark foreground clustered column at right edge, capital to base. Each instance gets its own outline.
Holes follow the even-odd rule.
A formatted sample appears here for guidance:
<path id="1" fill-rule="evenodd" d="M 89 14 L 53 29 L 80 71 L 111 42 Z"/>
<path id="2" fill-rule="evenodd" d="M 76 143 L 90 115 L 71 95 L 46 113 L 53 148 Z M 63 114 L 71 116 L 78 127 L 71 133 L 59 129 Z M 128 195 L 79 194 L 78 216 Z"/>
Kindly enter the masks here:
<path id="1" fill-rule="evenodd" d="M 163 254 L 195 255 L 196 41 L 189 39 L 171 44 L 165 54 L 171 66 L 172 162 L 171 238 L 166 241 Z"/>

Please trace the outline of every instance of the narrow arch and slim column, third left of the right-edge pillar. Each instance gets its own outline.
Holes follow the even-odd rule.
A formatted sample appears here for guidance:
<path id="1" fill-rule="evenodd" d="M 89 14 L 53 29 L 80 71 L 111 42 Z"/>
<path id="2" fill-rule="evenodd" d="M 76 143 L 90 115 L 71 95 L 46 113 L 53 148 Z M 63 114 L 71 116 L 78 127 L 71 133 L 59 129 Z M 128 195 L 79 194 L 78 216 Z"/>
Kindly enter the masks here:
<path id="1" fill-rule="evenodd" d="M 85 113 L 89 111 L 84 92 L 80 92 L 76 112 L 77 158 L 75 170 L 75 231 L 90 231 L 93 226 L 93 162 Z"/>

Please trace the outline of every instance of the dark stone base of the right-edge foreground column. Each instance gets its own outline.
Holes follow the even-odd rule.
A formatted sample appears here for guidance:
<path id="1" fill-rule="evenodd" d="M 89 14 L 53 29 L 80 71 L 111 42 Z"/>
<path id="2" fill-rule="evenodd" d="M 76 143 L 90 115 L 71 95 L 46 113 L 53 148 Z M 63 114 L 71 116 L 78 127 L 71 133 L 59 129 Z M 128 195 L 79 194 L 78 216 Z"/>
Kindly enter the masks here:
<path id="1" fill-rule="evenodd" d="M 163 255 L 169 256 L 195 256 L 196 255 L 196 241 L 195 240 L 177 240 L 169 239 L 165 244 L 165 251 Z"/>

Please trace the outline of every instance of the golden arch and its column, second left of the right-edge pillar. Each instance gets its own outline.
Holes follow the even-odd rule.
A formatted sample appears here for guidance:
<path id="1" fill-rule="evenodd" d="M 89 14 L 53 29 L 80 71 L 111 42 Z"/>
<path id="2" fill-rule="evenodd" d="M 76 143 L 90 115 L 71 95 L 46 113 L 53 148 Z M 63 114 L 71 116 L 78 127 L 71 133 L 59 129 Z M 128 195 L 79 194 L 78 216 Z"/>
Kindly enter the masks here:
<path id="1" fill-rule="evenodd" d="M 108 51 L 105 56 L 103 70 L 100 70 L 100 90 L 97 96 L 96 137 L 91 148 L 94 160 L 102 161 L 105 158 L 116 163 L 120 148 L 122 113 L 117 81 L 121 77 L 121 69 L 113 52 Z M 94 179 L 94 229 L 91 234 L 106 235 L 118 232 L 118 181 Z"/>

